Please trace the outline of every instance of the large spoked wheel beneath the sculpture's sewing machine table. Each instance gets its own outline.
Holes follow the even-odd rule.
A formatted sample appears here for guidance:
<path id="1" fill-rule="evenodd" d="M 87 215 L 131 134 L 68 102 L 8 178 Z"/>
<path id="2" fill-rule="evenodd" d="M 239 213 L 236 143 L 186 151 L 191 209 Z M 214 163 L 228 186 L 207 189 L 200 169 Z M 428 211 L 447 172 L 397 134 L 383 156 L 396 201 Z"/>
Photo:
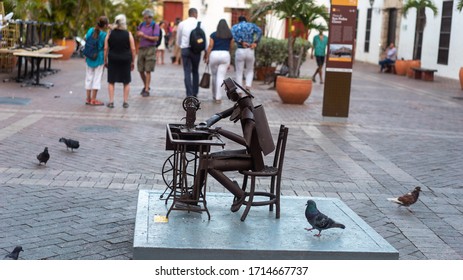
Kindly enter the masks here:
<path id="1" fill-rule="evenodd" d="M 162 165 L 162 179 L 166 184 L 167 188 L 164 191 L 166 193 L 167 190 L 170 189 L 172 192 L 174 190 L 174 157 L 178 153 L 177 151 L 170 155 L 164 164 Z M 196 175 L 196 160 L 199 158 L 195 152 L 187 152 L 186 153 L 186 176 L 183 178 L 186 180 L 187 186 L 193 186 L 194 178 Z M 178 172 L 177 176 L 177 187 L 180 185 L 180 180 L 182 179 L 181 172 Z M 161 199 L 164 197 L 164 193 L 161 195 Z M 170 196 L 170 195 L 169 195 Z M 169 196 L 166 199 L 169 199 Z"/>

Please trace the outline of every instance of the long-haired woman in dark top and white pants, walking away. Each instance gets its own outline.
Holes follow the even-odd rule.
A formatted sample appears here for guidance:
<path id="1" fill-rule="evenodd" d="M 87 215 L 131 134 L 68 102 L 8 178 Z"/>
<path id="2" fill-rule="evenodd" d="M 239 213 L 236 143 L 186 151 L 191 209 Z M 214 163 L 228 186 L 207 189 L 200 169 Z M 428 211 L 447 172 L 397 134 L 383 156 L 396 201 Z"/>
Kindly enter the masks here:
<path id="1" fill-rule="evenodd" d="M 212 99 L 215 103 L 222 102 L 224 89 L 221 85 L 225 80 L 228 67 L 230 66 L 230 49 L 233 45 L 233 36 L 224 19 L 219 21 L 217 31 L 210 36 L 209 47 L 204 55 L 204 62 L 209 64 L 211 69 Z"/>

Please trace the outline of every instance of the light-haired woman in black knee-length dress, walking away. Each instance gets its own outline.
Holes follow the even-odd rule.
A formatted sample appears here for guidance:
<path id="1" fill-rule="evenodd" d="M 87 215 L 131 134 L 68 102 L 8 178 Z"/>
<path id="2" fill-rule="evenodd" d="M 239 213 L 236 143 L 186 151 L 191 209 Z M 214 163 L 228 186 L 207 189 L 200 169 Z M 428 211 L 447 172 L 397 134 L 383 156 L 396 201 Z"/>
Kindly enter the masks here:
<path id="1" fill-rule="evenodd" d="M 128 108 L 131 71 L 134 69 L 135 41 L 132 33 L 127 31 L 127 19 L 125 15 L 117 15 L 114 29 L 106 36 L 105 41 L 105 65 L 108 67 L 108 108 L 114 108 L 114 84 L 124 84 L 123 107 Z"/>

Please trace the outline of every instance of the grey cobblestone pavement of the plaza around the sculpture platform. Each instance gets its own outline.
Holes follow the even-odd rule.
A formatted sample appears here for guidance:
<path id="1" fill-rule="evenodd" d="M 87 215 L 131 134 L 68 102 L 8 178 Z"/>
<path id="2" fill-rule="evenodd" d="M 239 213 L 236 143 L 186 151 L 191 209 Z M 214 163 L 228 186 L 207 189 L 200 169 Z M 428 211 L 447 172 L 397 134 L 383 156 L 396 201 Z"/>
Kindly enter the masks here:
<path id="1" fill-rule="evenodd" d="M 158 65 L 148 98 L 138 95 L 134 72 L 128 109 L 120 85 L 114 109 L 84 105 L 82 60 L 53 67 L 61 71 L 43 79 L 55 83 L 50 89 L 0 84 L 0 255 L 21 244 L 24 259 L 130 259 L 138 190 L 164 189 L 165 125 L 183 122 L 181 67 Z M 309 61 L 303 71 L 314 68 Z M 321 116 L 318 83 L 302 106 L 282 104 L 268 88 L 255 83 L 255 104 L 264 104 L 274 131 L 290 128 L 283 195 L 342 199 L 400 259 L 463 258 L 458 81 L 416 81 L 357 63 L 345 121 Z M 106 85 L 99 98 L 107 101 Z M 199 120 L 230 106 L 204 89 L 199 99 Z M 60 137 L 81 147 L 66 151 Z M 45 146 L 51 159 L 39 166 Z M 423 192 L 413 213 L 386 200 L 414 186 Z M 212 179 L 209 188 L 224 192 Z"/>

